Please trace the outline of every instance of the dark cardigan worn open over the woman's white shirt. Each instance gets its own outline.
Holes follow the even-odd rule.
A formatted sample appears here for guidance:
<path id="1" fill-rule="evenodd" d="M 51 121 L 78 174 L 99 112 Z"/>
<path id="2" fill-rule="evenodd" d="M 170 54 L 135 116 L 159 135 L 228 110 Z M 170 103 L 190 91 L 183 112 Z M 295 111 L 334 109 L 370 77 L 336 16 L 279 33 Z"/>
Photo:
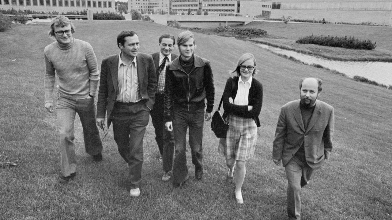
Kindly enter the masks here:
<path id="1" fill-rule="evenodd" d="M 247 105 L 234 105 L 229 103 L 229 97 L 234 100 L 238 90 L 238 76 L 230 77 L 227 79 L 225 91 L 223 92 L 223 108 L 225 110 L 223 117 L 226 118 L 227 114 L 233 113 L 238 117 L 252 118 L 256 125 L 260 127 L 259 115 L 261 105 L 263 105 L 263 85 L 252 78 L 252 84 L 249 88 L 248 105 L 253 106 L 253 109 L 248 111 Z"/>

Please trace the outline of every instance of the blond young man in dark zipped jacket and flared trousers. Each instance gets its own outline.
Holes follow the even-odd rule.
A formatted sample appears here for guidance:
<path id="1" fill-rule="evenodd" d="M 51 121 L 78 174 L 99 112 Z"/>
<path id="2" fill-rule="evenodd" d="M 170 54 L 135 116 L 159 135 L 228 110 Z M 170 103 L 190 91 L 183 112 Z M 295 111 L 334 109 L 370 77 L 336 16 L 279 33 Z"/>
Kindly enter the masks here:
<path id="1" fill-rule="evenodd" d="M 181 32 L 177 42 L 180 56 L 166 68 L 164 113 L 166 129 L 174 131 L 176 153 L 172 170 L 173 186 L 181 188 L 189 177 L 185 155 L 188 127 L 195 178 L 200 180 L 203 177 L 203 125 L 204 119 L 211 119 L 215 89 L 210 62 L 194 54 L 192 32 Z"/>

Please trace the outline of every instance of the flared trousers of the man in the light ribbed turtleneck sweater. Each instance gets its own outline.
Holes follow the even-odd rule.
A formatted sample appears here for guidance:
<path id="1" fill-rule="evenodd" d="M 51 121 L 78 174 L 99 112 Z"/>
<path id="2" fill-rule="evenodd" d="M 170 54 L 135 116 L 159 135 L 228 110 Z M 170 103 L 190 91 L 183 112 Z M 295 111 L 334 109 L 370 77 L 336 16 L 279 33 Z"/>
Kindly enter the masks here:
<path id="1" fill-rule="evenodd" d="M 86 153 L 93 156 L 102 151 L 102 141 L 96 126 L 94 99 L 71 99 L 61 94 L 57 98 L 57 125 L 60 132 L 60 168 L 64 177 L 76 172 L 74 136 L 75 115 L 83 128 Z"/>

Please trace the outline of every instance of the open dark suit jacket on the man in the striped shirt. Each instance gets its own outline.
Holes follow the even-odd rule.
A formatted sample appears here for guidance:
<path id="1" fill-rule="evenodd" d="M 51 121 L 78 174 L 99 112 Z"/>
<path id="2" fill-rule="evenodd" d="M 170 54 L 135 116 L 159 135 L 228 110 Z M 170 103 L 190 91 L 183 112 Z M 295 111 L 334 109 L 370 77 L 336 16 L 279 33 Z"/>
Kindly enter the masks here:
<path id="1" fill-rule="evenodd" d="M 107 112 L 107 126 L 109 128 L 112 121 L 112 111 L 118 88 L 118 56 L 114 54 L 102 60 L 101 80 L 98 91 L 97 118 L 105 118 Z M 136 56 L 136 66 L 138 69 L 139 90 L 142 100 L 150 109 L 154 106 L 156 93 L 156 73 L 154 61 L 151 55 L 138 53 Z"/>

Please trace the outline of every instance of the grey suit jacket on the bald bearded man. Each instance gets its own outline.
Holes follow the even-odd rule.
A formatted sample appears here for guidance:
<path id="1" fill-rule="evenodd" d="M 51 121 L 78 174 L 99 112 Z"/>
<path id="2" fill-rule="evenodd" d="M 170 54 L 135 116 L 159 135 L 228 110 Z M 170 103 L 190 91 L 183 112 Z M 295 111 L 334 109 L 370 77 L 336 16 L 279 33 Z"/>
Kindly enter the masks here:
<path id="1" fill-rule="evenodd" d="M 305 130 L 299 99 L 283 105 L 276 125 L 272 158 L 282 160 L 286 166 L 305 142 L 306 162 L 318 169 L 330 157 L 334 133 L 334 108 L 316 100 L 316 106 Z"/>

